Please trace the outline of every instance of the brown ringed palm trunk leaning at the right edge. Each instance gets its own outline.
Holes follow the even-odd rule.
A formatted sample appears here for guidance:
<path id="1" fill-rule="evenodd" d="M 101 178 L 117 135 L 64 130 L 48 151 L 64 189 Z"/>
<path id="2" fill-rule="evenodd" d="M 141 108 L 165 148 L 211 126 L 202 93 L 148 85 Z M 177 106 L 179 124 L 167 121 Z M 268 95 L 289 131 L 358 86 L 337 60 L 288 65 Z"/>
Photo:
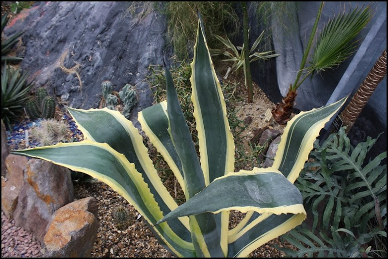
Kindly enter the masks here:
<path id="1" fill-rule="evenodd" d="M 373 91 L 387 74 L 387 49 L 383 51 L 378 61 L 364 79 L 356 94 L 353 96 L 345 110 L 339 115 L 343 121 L 343 126 L 347 126 L 346 132 L 349 132 L 356 122 L 361 110 L 367 104 Z"/>

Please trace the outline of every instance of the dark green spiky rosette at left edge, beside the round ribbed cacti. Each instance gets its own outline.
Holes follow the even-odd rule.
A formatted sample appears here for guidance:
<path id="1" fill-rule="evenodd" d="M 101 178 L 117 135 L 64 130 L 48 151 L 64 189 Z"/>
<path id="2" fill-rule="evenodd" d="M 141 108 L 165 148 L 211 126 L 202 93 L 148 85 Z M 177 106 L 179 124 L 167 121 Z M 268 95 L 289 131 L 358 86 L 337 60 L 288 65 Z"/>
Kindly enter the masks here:
<path id="1" fill-rule="evenodd" d="M 7 62 L 1 72 L 1 119 L 8 129 L 12 129 L 11 121 L 17 120 L 23 113 L 32 84 L 27 83 L 27 72 L 20 75 L 20 69 L 13 71 Z"/>

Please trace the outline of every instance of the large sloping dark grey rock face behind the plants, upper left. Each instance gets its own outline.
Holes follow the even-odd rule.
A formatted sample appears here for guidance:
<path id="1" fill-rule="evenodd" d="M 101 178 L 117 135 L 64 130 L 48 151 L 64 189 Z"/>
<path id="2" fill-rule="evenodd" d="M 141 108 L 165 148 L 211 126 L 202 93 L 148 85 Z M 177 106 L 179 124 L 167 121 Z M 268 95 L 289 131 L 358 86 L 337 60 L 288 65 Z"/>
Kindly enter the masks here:
<path id="1" fill-rule="evenodd" d="M 128 2 L 40 2 L 19 14 L 5 29 L 24 30 L 21 67 L 70 107 L 97 108 L 101 83 L 113 90 L 134 85 L 138 95 L 132 114 L 151 105 L 144 81 L 150 64 L 162 64 L 165 18 L 157 10 L 131 15 Z M 138 10 L 139 12 L 141 10 Z M 78 76 L 60 68 L 79 64 Z"/>

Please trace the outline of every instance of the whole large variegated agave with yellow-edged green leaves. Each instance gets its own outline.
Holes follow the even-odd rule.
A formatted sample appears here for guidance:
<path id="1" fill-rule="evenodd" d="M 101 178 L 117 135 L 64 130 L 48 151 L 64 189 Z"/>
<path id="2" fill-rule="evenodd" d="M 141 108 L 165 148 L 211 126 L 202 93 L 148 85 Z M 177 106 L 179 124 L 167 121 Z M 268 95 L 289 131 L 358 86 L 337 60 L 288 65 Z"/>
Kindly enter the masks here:
<path id="1" fill-rule="evenodd" d="M 143 138 L 119 112 L 68 108 L 85 136 L 78 143 L 14 151 L 84 172 L 110 185 L 143 215 L 179 257 L 244 257 L 306 217 L 298 177 L 324 123 L 343 100 L 302 112 L 285 129 L 272 168 L 234 172 L 234 142 L 201 19 L 192 63 L 198 159 L 166 70 L 167 101 L 139 113 L 142 129 L 174 172 L 187 202 L 179 206 L 158 177 Z M 246 213 L 228 229 L 229 211 Z"/>

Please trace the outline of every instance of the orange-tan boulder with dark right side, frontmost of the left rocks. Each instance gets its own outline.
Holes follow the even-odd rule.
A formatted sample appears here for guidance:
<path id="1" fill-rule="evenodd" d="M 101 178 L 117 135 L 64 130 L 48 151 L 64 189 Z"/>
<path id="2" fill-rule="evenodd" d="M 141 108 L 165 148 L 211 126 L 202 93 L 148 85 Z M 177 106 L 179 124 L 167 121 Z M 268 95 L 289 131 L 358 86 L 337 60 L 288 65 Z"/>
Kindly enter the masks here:
<path id="1" fill-rule="evenodd" d="M 44 257 L 90 257 L 98 228 L 97 207 L 95 198 L 84 198 L 57 210 L 44 237 Z"/>

